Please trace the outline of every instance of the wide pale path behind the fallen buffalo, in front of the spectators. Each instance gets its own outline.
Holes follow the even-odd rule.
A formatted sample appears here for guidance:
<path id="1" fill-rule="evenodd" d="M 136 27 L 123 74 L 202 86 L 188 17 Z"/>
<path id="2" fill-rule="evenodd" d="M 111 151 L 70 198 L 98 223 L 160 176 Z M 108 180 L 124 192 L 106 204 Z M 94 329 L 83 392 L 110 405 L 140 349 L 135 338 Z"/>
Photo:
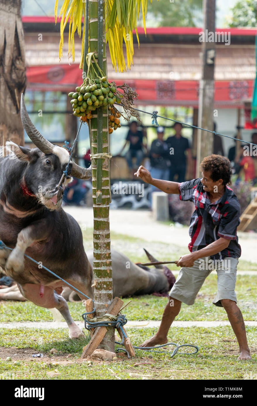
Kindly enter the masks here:
<path id="1" fill-rule="evenodd" d="M 93 209 L 91 207 L 65 206 L 81 226 L 94 226 Z M 120 234 L 142 238 L 150 242 L 164 242 L 172 246 L 185 248 L 189 243 L 188 227 L 174 227 L 152 219 L 149 210 L 110 210 L 110 229 Z M 257 262 L 257 233 L 238 232 L 242 248 L 241 260 Z"/>

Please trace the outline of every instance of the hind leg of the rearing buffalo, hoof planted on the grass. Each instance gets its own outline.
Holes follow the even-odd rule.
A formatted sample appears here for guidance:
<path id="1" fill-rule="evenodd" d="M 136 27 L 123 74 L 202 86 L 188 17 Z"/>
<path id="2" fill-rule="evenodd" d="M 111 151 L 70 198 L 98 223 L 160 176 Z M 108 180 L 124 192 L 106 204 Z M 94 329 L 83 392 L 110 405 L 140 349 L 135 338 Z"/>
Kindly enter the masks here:
<path id="1" fill-rule="evenodd" d="M 53 289 L 45 286 L 44 295 L 41 298 L 39 295 L 40 285 L 26 283 L 25 285 L 20 285 L 19 288 L 24 298 L 37 304 L 37 306 L 45 307 L 46 309 L 53 309 L 55 307 L 59 310 L 65 322 L 68 324 L 70 338 L 85 337 L 81 328 L 72 320 L 66 300 L 61 295 L 58 295 Z"/>

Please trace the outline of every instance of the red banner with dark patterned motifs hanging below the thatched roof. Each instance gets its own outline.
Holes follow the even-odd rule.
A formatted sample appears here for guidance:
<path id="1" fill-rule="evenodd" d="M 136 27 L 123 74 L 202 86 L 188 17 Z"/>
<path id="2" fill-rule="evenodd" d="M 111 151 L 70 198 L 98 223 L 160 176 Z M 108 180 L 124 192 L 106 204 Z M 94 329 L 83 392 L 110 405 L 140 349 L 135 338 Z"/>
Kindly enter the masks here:
<path id="1" fill-rule="evenodd" d="M 38 91 L 70 92 L 80 85 L 81 69 L 78 65 L 44 65 L 27 68 L 28 89 Z M 126 76 L 126 74 L 124 74 Z M 113 80 L 109 75 L 109 80 Z M 196 80 L 115 80 L 126 82 L 138 94 L 139 104 L 163 106 L 198 106 L 199 82 Z M 215 107 L 243 107 L 244 100 L 252 96 L 252 80 L 216 81 Z"/>

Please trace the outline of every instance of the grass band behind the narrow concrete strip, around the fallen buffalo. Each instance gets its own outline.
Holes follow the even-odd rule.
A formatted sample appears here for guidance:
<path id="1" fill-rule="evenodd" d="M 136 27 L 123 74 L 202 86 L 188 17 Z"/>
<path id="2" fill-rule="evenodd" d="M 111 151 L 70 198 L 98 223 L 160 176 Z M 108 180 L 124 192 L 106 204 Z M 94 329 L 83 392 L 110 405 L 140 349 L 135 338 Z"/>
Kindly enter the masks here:
<path id="1" fill-rule="evenodd" d="M 209 275 L 193 306 L 182 304 L 181 312 L 176 320 L 227 320 L 227 313 L 223 308 L 214 306 L 212 300 L 217 289 L 217 276 L 215 272 Z M 238 304 L 245 320 L 257 320 L 257 275 L 238 275 L 236 284 Z M 125 314 L 128 320 L 161 320 L 166 297 L 153 295 L 134 296 L 125 298 L 124 303 L 132 302 L 126 307 Z M 48 309 L 38 307 L 31 302 L 0 302 L 1 322 L 21 321 L 52 321 L 52 313 Z M 68 303 L 70 313 L 74 320 L 82 321 L 85 307 L 82 302 Z"/>

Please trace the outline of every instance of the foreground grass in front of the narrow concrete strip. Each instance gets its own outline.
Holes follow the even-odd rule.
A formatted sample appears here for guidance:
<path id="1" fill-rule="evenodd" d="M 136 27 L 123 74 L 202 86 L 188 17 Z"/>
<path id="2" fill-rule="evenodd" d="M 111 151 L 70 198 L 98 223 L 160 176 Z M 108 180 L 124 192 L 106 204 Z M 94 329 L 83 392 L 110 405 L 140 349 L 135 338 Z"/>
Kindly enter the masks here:
<path id="1" fill-rule="evenodd" d="M 155 329 L 131 329 L 127 332 L 134 345 L 151 337 Z M 35 328 L 0 329 L 0 374 L 12 374 L 12 379 L 206 379 L 244 380 L 247 374 L 257 374 L 257 337 L 255 328 L 247 328 L 253 359 L 237 361 L 238 346 L 231 328 L 172 328 L 169 341 L 199 346 L 199 353 L 176 355 L 170 358 L 164 353 L 137 351 L 136 358 L 118 357 L 118 361 L 95 362 L 89 368 L 87 361 L 80 360 L 85 342 L 67 339 L 62 329 Z M 49 355 L 51 348 L 58 353 Z M 172 347 L 174 348 L 174 347 Z M 23 350 L 22 350 L 23 349 Z M 193 350 L 193 349 L 192 349 Z M 190 351 L 185 348 L 184 351 Z M 14 352 L 16 355 L 14 355 Z M 43 353 L 43 358 L 32 358 L 31 353 Z M 11 361 L 3 357 L 13 354 Z M 26 355 L 28 354 L 28 355 Z M 20 360 L 17 363 L 17 360 Z M 134 366 L 135 363 L 148 363 Z M 57 371 L 56 371 L 57 370 Z M 50 374 L 49 374 L 50 373 Z M 132 374 L 132 375 L 130 375 Z M 138 374 L 138 375 L 133 375 Z M 51 376 L 52 375 L 52 376 Z M 256 375 L 255 375 L 256 376 Z"/>

